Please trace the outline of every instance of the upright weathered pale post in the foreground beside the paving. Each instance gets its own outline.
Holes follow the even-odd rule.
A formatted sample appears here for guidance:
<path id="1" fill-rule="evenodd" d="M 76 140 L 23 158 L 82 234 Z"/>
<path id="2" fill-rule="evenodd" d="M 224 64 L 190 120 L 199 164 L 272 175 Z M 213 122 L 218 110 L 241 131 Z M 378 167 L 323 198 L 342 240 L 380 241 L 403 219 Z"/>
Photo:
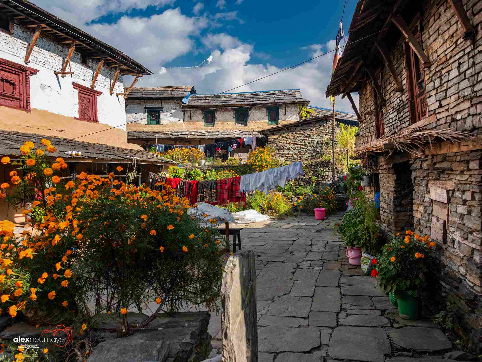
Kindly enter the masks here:
<path id="1" fill-rule="evenodd" d="M 223 362 L 258 362 L 256 266 L 251 250 L 231 255 L 221 287 Z"/>

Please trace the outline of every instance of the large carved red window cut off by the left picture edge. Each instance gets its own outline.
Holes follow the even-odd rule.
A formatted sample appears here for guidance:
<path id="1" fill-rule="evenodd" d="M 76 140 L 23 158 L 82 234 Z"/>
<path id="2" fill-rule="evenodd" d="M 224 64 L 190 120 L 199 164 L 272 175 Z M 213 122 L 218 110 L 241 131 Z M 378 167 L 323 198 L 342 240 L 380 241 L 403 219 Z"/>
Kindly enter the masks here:
<path id="1" fill-rule="evenodd" d="M 30 75 L 38 71 L 0 58 L 0 106 L 30 112 Z"/>

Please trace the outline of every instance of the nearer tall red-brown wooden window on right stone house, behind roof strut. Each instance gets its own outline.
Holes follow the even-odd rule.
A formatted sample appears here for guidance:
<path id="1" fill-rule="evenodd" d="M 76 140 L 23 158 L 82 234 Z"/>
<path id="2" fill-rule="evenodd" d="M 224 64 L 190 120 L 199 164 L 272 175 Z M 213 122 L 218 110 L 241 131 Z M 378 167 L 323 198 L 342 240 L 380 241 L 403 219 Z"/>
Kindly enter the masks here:
<path id="1" fill-rule="evenodd" d="M 415 14 L 415 18 L 409 26 L 415 36 L 416 41 L 422 46 L 422 23 L 420 13 Z M 408 110 L 410 123 L 415 124 L 428 115 L 427 92 L 425 89 L 425 75 L 420 59 L 412 50 L 408 42 L 403 44 L 405 56 L 405 74 L 407 77 Z M 418 65 L 418 70 L 417 70 Z M 417 77 L 416 74 L 421 77 Z M 416 79 L 420 78 L 420 79 Z M 421 84 L 421 87 L 418 86 Z"/>

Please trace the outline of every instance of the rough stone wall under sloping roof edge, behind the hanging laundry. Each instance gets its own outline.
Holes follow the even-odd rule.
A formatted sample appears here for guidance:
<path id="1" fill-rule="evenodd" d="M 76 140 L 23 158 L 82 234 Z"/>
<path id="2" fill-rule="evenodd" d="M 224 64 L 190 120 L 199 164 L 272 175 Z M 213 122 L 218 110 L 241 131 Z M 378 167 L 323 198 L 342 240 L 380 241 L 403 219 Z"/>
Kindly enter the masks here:
<path id="1" fill-rule="evenodd" d="M 296 162 L 319 158 L 325 139 L 331 144 L 331 121 L 316 121 L 267 131 L 268 144 L 276 148 L 278 157 Z"/>

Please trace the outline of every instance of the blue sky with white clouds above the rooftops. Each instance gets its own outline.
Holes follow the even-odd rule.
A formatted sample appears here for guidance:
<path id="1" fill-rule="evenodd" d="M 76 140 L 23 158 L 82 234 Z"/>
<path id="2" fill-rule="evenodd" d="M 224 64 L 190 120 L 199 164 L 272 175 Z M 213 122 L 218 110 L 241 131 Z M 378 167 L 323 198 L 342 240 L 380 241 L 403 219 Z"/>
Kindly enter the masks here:
<path id="1" fill-rule="evenodd" d="M 34 2 L 155 73 L 137 85 L 189 84 L 198 93 L 222 92 L 334 49 L 344 5 L 343 0 Z M 355 6 L 356 0 L 347 1 L 345 31 Z M 324 91 L 332 61 L 330 53 L 236 91 L 300 88 L 311 104 L 329 107 Z M 336 109 L 351 111 L 341 98 Z"/>

